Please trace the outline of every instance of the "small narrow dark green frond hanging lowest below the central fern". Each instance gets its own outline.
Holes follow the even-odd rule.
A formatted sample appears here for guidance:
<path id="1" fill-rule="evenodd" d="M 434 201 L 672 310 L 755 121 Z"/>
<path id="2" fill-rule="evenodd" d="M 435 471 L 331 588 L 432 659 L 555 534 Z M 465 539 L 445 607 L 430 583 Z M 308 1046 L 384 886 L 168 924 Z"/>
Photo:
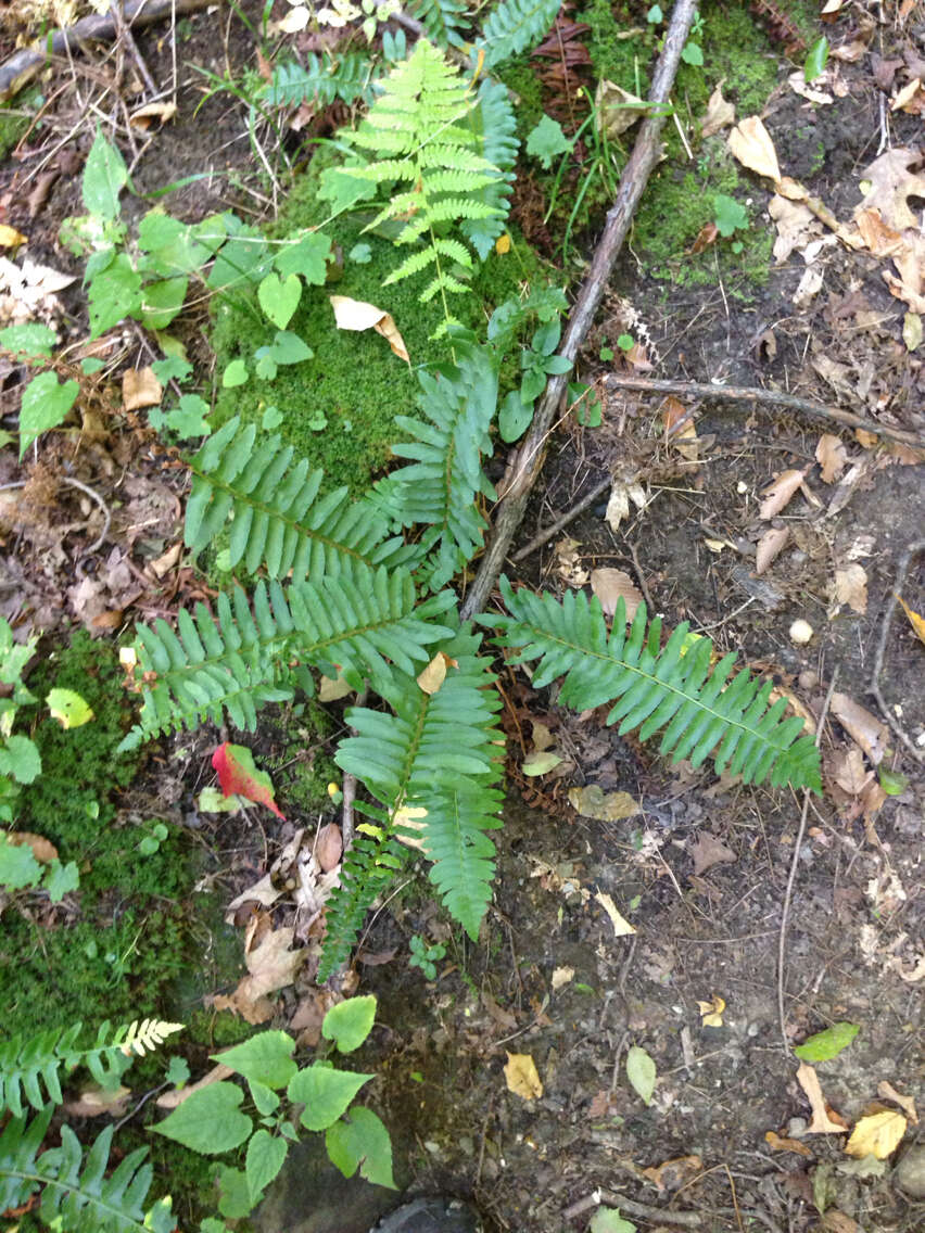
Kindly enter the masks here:
<path id="1" fill-rule="evenodd" d="M 359 803 L 356 809 L 360 811 Z M 318 964 L 319 984 L 323 984 L 349 958 L 366 912 L 395 879 L 405 861 L 401 845 L 387 837 L 385 815 L 377 810 L 369 813 L 386 822 L 386 826 L 369 827 L 377 834 L 361 831 L 344 853 L 340 884 L 334 888 L 324 905 L 324 942 Z M 360 827 L 365 826 L 366 824 L 360 824 Z"/>

